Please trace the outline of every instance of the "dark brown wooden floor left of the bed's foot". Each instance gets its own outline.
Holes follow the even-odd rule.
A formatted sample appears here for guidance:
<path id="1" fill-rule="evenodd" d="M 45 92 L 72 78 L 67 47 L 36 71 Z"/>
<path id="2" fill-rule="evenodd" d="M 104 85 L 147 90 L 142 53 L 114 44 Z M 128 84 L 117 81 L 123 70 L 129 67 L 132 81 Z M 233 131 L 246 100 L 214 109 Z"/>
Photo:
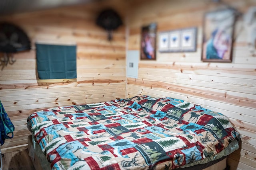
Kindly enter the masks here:
<path id="1" fill-rule="evenodd" d="M 35 170 L 28 149 L 2 154 L 2 170 Z"/>

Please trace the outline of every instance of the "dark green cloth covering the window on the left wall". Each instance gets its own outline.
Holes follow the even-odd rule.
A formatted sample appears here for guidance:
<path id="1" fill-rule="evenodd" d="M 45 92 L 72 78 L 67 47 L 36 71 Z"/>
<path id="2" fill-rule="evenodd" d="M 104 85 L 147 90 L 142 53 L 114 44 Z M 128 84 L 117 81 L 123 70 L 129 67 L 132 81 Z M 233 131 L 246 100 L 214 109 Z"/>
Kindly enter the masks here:
<path id="1" fill-rule="evenodd" d="M 76 45 L 36 43 L 39 79 L 76 78 Z"/>

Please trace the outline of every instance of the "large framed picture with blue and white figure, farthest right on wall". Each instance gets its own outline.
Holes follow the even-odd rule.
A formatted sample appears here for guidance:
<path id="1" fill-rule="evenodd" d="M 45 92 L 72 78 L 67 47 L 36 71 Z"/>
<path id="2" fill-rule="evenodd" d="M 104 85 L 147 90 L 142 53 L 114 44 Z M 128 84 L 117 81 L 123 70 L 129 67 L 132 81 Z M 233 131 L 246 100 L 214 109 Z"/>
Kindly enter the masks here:
<path id="1" fill-rule="evenodd" d="M 208 12 L 204 17 L 202 61 L 232 62 L 235 15 L 232 10 Z"/>

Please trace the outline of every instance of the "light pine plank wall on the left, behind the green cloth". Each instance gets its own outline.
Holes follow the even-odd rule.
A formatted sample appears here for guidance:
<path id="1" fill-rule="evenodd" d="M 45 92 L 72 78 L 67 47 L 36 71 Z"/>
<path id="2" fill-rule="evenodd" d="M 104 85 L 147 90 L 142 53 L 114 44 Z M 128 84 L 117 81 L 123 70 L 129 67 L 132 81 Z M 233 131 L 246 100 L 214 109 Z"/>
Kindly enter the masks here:
<path id="1" fill-rule="evenodd" d="M 26 148 L 27 117 L 47 107 L 104 102 L 125 97 L 125 25 L 113 32 L 113 40 L 96 25 L 101 9 L 111 6 L 124 18 L 115 0 L 0 17 L 20 26 L 32 41 L 32 50 L 14 55 L 16 62 L 0 70 L 0 100 L 12 123 L 14 138 L 2 152 Z M 41 84 L 36 76 L 35 42 L 76 43 L 77 80 Z M 2 54 L 1 54 L 2 55 Z"/>

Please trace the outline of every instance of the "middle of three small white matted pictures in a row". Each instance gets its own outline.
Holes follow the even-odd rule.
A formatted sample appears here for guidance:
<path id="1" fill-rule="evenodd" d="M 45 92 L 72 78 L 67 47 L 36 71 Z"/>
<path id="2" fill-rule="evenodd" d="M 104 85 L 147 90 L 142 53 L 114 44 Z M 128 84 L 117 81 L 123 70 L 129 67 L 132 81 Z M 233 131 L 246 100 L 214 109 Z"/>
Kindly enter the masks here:
<path id="1" fill-rule="evenodd" d="M 179 52 L 180 51 L 180 30 L 170 31 L 169 39 L 169 51 Z"/>

